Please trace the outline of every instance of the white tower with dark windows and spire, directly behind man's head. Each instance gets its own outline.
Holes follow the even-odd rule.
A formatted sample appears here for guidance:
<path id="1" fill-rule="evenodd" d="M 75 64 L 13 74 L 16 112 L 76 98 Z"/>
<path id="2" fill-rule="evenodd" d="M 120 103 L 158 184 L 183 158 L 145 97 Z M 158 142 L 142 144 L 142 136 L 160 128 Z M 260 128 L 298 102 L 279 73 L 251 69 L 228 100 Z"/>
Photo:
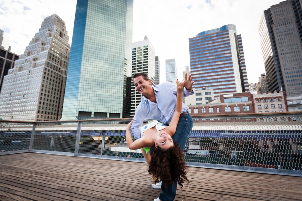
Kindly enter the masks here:
<path id="1" fill-rule="evenodd" d="M 151 84 L 156 84 L 156 57 L 154 47 L 145 36 L 144 40 L 133 42 L 132 45 L 132 76 L 136 73 L 146 73 L 151 80 Z M 158 58 L 158 57 L 157 57 Z M 134 117 L 135 110 L 140 104 L 143 95 L 138 93 L 133 83 L 131 84 L 131 113 Z"/>

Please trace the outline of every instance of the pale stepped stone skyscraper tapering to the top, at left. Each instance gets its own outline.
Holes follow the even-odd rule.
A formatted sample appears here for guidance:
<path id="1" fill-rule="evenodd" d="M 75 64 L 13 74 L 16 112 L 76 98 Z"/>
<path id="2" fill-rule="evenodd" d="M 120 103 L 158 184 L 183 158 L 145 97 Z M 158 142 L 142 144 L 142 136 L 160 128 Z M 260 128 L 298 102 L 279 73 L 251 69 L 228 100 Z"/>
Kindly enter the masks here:
<path id="1" fill-rule="evenodd" d="M 65 22 L 46 17 L 14 68 L 4 76 L 0 116 L 25 121 L 59 120 L 69 61 Z"/>

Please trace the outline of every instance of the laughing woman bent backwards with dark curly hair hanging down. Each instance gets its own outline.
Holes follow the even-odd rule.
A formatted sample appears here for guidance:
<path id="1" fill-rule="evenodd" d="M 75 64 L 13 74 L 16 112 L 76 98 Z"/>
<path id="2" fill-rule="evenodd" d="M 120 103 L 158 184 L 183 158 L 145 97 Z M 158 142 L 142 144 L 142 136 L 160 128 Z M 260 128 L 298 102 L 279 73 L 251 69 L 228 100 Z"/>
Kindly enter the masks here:
<path id="1" fill-rule="evenodd" d="M 126 139 L 129 149 L 143 149 L 142 152 L 148 153 L 149 148 L 155 146 L 151 153 L 151 159 L 145 159 L 149 165 L 149 174 L 155 177 L 156 181 L 162 179 L 165 187 L 172 184 L 172 181 L 177 180 L 178 184 L 183 187 L 184 180 L 188 182 L 185 171 L 185 161 L 183 154 L 177 143 L 173 143 L 172 136 L 174 135 L 182 109 L 182 93 L 184 88 L 183 82 L 177 83 L 177 99 L 175 111 L 169 126 L 154 120 L 149 124 L 140 127 L 141 138 L 133 142 L 130 127 L 133 120 L 126 127 Z"/>

